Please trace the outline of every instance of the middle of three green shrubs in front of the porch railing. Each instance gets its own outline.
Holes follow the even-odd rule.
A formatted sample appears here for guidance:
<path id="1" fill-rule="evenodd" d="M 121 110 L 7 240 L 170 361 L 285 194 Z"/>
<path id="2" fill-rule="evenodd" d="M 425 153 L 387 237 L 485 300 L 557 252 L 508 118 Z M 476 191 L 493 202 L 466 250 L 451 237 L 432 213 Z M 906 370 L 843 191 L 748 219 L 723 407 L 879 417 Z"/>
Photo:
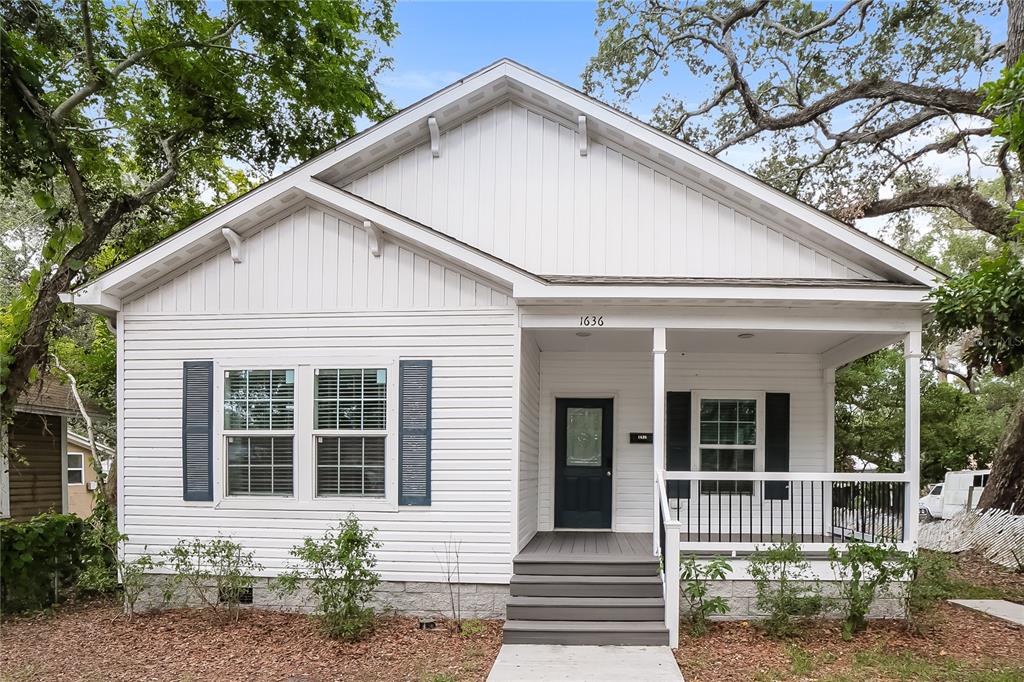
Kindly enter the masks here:
<path id="1" fill-rule="evenodd" d="M 756 605 L 767 617 L 762 628 L 772 637 L 792 637 L 804 622 L 821 612 L 817 584 L 796 543 L 783 543 L 751 555 L 750 573 L 757 587 Z"/>

